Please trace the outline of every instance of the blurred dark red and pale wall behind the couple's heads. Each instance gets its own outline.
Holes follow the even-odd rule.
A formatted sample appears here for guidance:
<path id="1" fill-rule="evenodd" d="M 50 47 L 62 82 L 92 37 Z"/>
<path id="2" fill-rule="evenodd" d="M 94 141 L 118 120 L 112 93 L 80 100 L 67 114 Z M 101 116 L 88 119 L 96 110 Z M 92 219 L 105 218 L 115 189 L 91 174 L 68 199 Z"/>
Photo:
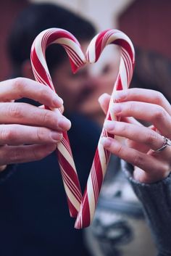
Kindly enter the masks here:
<path id="1" fill-rule="evenodd" d="M 88 17 L 96 28 L 119 28 L 141 49 L 155 51 L 171 58 L 170 0 L 31 0 L 53 2 Z M 6 41 L 13 20 L 26 0 L 1 0 L 0 8 L 0 80 L 8 78 L 10 64 Z M 24 47 L 24 46 L 23 46 Z"/>

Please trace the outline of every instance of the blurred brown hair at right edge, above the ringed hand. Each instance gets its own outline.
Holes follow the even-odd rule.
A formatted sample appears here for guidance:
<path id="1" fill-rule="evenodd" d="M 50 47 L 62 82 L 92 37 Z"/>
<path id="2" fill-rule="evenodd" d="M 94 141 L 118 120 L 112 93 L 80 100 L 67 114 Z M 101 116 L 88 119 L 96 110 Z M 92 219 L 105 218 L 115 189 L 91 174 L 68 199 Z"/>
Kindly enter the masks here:
<path id="1" fill-rule="evenodd" d="M 171 62 L 156 51 L 135 47 L 135 70 L 130 87 L 160 91 L 171 102 Z"/>

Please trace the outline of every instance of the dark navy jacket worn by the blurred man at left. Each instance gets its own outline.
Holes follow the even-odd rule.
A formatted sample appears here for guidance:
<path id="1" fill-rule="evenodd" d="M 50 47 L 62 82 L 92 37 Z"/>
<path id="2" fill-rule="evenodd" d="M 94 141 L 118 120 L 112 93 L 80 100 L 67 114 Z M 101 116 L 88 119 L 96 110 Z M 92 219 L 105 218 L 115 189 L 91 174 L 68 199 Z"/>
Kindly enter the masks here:
<path id="1" fill-rule="evenodd" d="M 70 143 L 84 188 L 99 140 L 99 127 L 70 117 Z M 0 176 L 0 255 L 89 255 L 83 231 L 70 218 L 56 153 L 37 162 L 9 165 Z"/>

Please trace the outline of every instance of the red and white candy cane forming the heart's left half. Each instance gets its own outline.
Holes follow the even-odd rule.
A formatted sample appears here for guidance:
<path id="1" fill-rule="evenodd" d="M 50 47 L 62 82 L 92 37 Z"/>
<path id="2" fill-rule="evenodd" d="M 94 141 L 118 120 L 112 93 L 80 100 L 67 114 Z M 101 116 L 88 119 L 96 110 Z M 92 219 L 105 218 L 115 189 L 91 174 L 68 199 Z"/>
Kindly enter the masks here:
<path id="1" fill-rule="evenodd" d="M 75 73 L 78 67 L 81 67 L 86 62 L 80 44 L 77 39 L 72 36 L 67 30 L 59 28 L 51 28 L 42 31 L 33 42 L 31 48 L 31 64 L 33 67 L 33 73 L 38 82 L 49 86 L 55 91 L 49 69 L 46 65 L 45 52 L 46 48 L 50 44 L 60 44 L 67 51 L 70 57 L 70 63 L 72 71 Z M 59 110 L 54 110 L 59 111 Z M 59 166 L 62 173 L 62 180 L 64 183 L 64 189 L 67 194 L 67 202 L 70 210 L 71 217 L 78 215 L 80 209 L 80 202 L 82 199 L 82 193 L 80 189 L 80 182 L 78 180 L 78 174 L 75 168 L 75 162 L 72 157 L 70 149 L 70 141 L 67 136 L 67 132 L 63 132 L 62 141 L 57 144 L 57 157 L 59 160 Z"/>

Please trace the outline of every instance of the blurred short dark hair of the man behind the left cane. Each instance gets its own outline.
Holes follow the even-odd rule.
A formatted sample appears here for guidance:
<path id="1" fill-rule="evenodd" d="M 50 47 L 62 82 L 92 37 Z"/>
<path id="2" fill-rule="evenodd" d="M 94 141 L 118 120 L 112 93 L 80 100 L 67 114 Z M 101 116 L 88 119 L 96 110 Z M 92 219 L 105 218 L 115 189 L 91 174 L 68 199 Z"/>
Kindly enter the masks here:
<path id="1" fill-rule="evenodd" d="M 91 22 L 57 4 L 29 4 L 15 20 L 7 41 L 15 76 L 21 75 L 22 63 L 30 59 L 30 48 L 34 39 L 47 28 L 63 28 L 80 41 L 90 41 L 96 33 Z M 46 50 L 49 70 L 57 67 L 65 57 L 62 46 L 49 46 Z"/>

